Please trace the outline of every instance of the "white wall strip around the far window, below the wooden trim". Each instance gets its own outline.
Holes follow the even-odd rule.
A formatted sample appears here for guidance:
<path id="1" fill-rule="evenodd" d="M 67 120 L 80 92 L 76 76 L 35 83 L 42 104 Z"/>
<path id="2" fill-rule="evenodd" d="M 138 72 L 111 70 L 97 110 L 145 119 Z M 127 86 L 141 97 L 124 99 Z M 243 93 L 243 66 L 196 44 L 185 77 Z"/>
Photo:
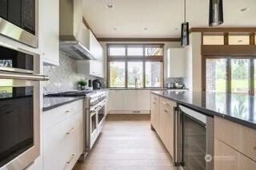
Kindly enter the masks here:
<path id="1" fill-rule="evenodd" d="M 104 50 L 104 58 L 105 58 L 105 61 L 104 61 L 104 65 L 105 65 L 105 77 L 107 78 L 107 75 L 106 75 L 106 44 L 164 44 L 164 80 L 166 80 L 166 76 L 167 76 L 167 49 L 169 48 L 179 48 L 181 47 L 181 42 L 100 42 L 102 47 L 103 47 L 103 50 Z"/>

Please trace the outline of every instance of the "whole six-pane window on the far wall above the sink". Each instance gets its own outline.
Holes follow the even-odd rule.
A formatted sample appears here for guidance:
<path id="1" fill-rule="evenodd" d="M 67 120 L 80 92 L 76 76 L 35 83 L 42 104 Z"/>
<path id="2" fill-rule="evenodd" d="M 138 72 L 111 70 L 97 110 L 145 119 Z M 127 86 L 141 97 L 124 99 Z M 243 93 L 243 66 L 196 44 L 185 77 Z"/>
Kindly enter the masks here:
<path id="1" fill-rule="evenodd" d="M 107 45 L 110 88 L 162 87 L 163 45 Z"/>

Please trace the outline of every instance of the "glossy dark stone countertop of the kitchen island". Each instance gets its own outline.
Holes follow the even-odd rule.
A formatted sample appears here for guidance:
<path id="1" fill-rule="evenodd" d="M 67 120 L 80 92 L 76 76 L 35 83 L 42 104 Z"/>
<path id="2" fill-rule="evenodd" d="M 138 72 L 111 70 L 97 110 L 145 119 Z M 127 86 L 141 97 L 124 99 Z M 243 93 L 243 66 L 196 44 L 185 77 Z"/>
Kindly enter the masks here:
<path id="1" fill-rule="evenodd" d="M 198 93 L 158 90 L 151 93 L 210 116 L 256 129 L 256 97 L 242 93 Z"/>

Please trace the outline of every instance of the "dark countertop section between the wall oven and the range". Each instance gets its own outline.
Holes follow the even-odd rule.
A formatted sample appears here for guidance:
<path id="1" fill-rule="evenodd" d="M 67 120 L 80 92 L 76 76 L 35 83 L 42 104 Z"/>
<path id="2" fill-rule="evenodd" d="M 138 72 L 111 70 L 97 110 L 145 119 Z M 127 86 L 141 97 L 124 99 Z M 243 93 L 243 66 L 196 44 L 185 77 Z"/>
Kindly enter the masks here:
<path id="1" fill-rule="evenodd" d="M 48 111 L 62 105 L 83 99 L 84 97 L 43 97 L 42 110 Z"/>

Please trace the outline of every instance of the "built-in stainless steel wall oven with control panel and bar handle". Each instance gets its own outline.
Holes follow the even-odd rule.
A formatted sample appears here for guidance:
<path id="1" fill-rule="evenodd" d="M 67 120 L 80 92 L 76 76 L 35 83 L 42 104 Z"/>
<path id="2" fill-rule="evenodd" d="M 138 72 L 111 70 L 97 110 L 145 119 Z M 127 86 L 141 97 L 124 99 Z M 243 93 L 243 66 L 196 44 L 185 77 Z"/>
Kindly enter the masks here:
<path id="1" fill-rule="evenodd" d="M 0 50 L 0 63 L 4 63 L 6 58 L 9 63 L 0 67 L 0 169 L 16 170 L 26 168 L 39 156 L 39 81 L 47 80 L 47 77 L 37 74 L 38 55 L 22 49 L 10 50 L 13 54 L 10 58 L 10 53 Z M 14 55 L 15 51 L 17 55 Z M 16 69 L 17 63 L 26 61 L 26 57 L 20 57 L 21 53 L 28 56 L 28 67 Z M 33 57 L 32 63 L 30 57 Z M 14 62 L 15 68 L 12 67 Z"/>

